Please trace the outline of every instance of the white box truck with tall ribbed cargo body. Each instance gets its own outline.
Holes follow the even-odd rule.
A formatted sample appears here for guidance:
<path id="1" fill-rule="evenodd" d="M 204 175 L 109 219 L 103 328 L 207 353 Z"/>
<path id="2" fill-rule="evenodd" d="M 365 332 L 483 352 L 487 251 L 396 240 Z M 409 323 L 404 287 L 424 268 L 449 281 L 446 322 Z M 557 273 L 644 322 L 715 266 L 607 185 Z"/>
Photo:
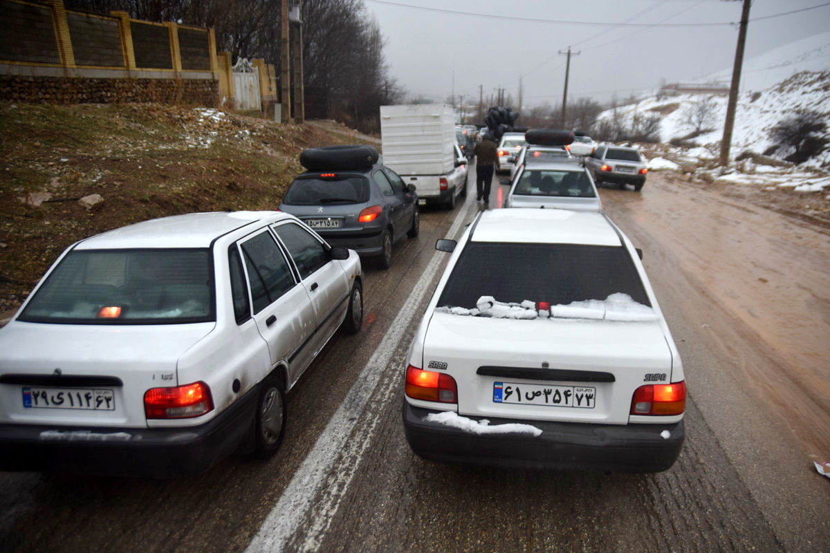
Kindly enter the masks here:
<path id="1" fill-rule="evenodd" d="M 383 165 L 415 185 L 418 203 L 452 209 L 466 196 L 466 158 L 456 143 L 452 106 L 380 106 Z"/>

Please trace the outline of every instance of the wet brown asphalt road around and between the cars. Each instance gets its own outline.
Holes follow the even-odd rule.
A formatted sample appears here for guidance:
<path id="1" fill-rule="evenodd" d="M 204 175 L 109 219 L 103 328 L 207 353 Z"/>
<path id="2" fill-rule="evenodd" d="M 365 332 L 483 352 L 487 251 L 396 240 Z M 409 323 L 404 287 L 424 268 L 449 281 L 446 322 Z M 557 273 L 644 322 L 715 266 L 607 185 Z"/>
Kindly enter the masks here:
<path id="1" fill-rule="evenodd" d="M 686 263 L 694 252 L 666 250 L 665 232 L 643 219 L 643 206 L 661 201 L 674 215 L 691 210 L 695 197 L 674 186 L 650 174 L 642 194 L 600 191 L 609 216 L 645 246 L 684 361 L 686 443 L 669 471 L 457 468 L 408 449 L 404 357 L 446 263 L 435 240 L 480 209 L 471 181 L 454 211 L 422 210 L 421 234 L 396 245 L 391 269 L 367 264 L 364 329 L 335 336 L 291 391 L 274 458 L 235 456 L 173 481 L 0 473 L 0 549 L 830 551 L 830 481 L 812 470 L 797 421 L 776 414 L 734 352 L 788 367 L 761 355 L 757 332 L 701 284 Z M 494 185 L 490 205 L 505 192 Z"/>

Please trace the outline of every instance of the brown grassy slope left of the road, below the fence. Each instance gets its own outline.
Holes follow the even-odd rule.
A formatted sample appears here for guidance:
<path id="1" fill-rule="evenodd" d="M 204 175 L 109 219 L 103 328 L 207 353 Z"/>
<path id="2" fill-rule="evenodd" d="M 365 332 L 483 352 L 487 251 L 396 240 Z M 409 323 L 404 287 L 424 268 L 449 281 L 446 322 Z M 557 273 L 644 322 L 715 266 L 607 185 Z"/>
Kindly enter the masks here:
<path id="1" fill-rule="evenodd" d="M 215 111 L 0 103 L 0 314 L 86 236 L 179 213 L 276 208 L 302 171 L 300 151 L 330 143 L 343 138 Z M 51 200 L 27 205 L 29 192 Z M 91 211 L 76 201 L 94 193 L 104 202 Z"/>

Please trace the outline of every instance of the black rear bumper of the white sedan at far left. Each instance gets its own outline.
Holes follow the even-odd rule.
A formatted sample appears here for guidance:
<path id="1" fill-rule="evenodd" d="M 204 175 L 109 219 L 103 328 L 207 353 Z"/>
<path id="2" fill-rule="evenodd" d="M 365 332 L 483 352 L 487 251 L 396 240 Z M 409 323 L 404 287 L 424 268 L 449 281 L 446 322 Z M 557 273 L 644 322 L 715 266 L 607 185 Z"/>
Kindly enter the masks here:
<path id="1" fill-rule="evenodd" d="M 0 425 L 0 470 L 176 478 L 203 473 L 252 432 L 259 386 L 205 424 L 180 428 Z"/>

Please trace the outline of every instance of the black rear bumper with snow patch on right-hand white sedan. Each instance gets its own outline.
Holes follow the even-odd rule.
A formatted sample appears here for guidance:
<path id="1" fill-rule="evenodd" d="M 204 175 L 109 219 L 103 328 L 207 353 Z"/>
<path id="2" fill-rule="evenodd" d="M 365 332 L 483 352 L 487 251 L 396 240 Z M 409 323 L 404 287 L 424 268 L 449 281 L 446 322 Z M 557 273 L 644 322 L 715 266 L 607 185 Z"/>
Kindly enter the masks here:
<path id="1" fill-rule="evenodd" d="M 472 434 L 424 420 L 432 412 L 440 411 L 403 401 L 403 429 L 410 447 L 436 463 L 657 473 L 675 463 L 685 437 L 682 420 L 623 426 L 489 419 L 491 426 L 524 422 L 542 434 Z M 668 439 L 660 435 L 664 430 L 670 433 Z"/>

